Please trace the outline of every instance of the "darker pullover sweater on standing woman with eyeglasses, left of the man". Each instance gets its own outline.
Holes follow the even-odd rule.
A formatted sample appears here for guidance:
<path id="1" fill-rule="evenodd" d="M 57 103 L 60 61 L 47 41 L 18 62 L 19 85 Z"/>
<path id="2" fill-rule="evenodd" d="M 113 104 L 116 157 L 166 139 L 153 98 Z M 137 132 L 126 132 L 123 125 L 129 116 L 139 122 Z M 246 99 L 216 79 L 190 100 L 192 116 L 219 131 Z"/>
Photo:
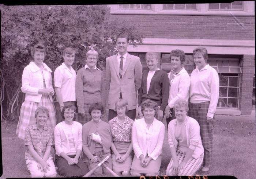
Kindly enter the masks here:
<path id="1" fill-rule="evenodd" d="M 102 71 L 97 69 L 81 68 L 76 76 L 76 102 L 78 112 L 84 112 L 84 104 L 101 102 Z"/>

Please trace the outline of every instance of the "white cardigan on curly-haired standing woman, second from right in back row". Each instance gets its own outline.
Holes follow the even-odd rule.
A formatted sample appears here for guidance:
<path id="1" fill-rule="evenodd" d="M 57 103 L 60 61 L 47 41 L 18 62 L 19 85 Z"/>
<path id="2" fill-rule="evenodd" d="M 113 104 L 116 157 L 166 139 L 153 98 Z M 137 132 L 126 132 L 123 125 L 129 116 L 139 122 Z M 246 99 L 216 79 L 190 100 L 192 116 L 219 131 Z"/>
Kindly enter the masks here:
<path id="1" fill-rule="evenodd" d="M 168 73 L 168 78 L 170 81 L 170 73 Z M 173 108 L 174 103 L 178 99 L 184 99 L 188 101 L 189 97 L 189 86 L 190 86 L 190 77 L 188 75 L 188 72 L 184 69 L 184 67 L 181 69 L 181 71 L 177 75 L 173 75 L 173 81 L 172 85 L 170 86 L 170 92 L 169 92 L 169 100 L 168 105 L 170 108 Z"/>

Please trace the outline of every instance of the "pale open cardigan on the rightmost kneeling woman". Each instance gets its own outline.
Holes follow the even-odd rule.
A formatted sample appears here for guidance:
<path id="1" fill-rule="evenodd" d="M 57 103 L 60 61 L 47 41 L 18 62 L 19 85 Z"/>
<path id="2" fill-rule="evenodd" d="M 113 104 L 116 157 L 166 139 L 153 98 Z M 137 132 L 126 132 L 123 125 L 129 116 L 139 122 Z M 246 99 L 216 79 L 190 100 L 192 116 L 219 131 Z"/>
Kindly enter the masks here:
<path id="1" fill-rule="evenodd" d="M 175 125 L 177 123 L 177 118 L 170 121 L 168 125 L 168 143 L 170 148 L 178 147 L 178 141 L 175 139 Z M 200 136 L 200 126 L 198 122 L 189 116 L 185 119 L 186 128 L 186 139 L 188 148 L 194 150 L 192 157 L 197 159 L 200 155 L 204 153 L 204 148 L 202 145 L 202 140 Z"/>

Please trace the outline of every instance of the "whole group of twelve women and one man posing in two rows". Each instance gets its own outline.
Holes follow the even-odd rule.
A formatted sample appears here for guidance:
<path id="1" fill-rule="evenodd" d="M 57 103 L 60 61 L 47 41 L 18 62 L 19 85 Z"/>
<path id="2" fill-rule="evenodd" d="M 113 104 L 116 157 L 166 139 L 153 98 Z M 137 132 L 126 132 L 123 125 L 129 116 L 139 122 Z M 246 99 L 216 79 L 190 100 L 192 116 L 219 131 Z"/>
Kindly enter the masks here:
<path id="1" fill-rule="evenodd" d="M 32 48 L 34 62 L 22 75 L 21 90 L 26 97 L 16 131 L 27 146 L 25 159 L 31 177 L 55 177 L 55 166 L 60 175 L 83 176 L 107 156 L 105 167 L 97 168 L 95 174 L 110 169 L 120 176 L 159 175 L 163 119 L 171 156 L 166 175 L 209 172 L 219 77 L 207 64 L 206 48 L 193 50 L 196 69 L 189 77 L 183 67 L 184 51 L 170 52 L 168 74 L 159 69 L 159 54 L 147 52 L 147 69 L 142 73 L 140 58 L 127 52 L 128 45 L 127 36 L 117 36 L 118 53 L 106 58 L 108 122 L 101 119 L 103 75 L 96 67 L 97 51 L 86 53 L 86 65 L 76 74 L 72 68 L 75 50 L 65 48 L 63 63 L 54 71 L 54 90 L 52 71 L 43 62 L 44 45 Z"/>

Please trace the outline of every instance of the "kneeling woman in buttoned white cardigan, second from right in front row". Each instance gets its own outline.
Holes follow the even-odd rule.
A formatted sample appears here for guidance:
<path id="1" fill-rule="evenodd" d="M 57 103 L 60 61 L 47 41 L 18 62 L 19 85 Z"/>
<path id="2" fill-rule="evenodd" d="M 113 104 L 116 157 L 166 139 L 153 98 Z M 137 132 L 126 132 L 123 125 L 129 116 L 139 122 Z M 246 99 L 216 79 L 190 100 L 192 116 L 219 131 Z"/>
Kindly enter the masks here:
<path id="1" fill-rule="evenodd" d="M 135 120 L 132 126 L 132 146 L 135 153 L 131 166 L 132 176 L 156 176 L 162 161 L 162 146 L 165 125 L 155 116 L 158 105 L 152 100 L 141 104 L 143 118 Z"/>

